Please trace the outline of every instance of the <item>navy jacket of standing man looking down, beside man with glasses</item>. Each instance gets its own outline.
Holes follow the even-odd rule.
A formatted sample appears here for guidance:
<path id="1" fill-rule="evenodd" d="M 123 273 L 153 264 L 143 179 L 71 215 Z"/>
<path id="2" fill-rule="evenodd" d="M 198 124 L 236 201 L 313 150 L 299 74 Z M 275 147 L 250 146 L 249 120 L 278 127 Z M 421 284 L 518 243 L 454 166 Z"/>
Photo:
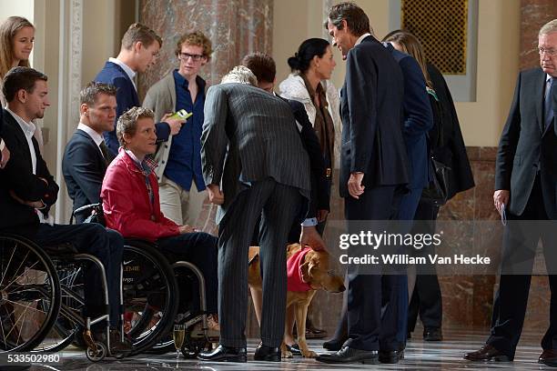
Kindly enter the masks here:
<path id="1" fill-rule="evenodd" d="M 119 65 L 112 62 L 106 62 L 103 69 L 96 75 L 95 81 L 98 83 L 105 83 L 110 85 L 115 85 L 116 91 L 116 119 L 114 122 L 114 130 L 111 132 L 105 132 L 106 146 L 110 148 L 113 155 L 118 154 L 118 139 L 116 138 L 116 123 L 118 118 L 124 112 L 126 112 L 131 107 L 141 106 L 139 104 L 139 97 L 137 96 L 136 86 L 130 80 L 126 71 L 122 69 Z M 167 123 L 157 123 L 157 142 L 166 142 L 168 140 L 168 135 L 170 135 L 170 126 Z"/>

